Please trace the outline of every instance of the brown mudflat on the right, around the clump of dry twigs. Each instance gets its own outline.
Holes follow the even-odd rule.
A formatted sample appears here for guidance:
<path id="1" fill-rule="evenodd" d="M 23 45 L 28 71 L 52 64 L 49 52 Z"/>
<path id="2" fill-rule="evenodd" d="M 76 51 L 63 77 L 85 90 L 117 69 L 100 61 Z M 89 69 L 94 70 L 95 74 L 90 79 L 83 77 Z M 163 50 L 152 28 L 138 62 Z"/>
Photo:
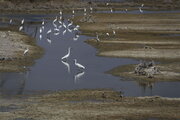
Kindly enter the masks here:
<path id="1" fill-rule="evenodd" d="M 156 60 L 161 74 L 154 81 L 180 80 L 180 21 L 179 13 L 152 14 L 92 14 L 92 22 L 82 22 L 83 16 L 76 17 L 82 34 L 97 36 L 86 42 L 98 49 L 99 56 L 124 57 L 141 60 Z M 113 33 L 114 31 L 114 33 Z M 113 69 L 111 74 L 140 78 L 133 74 L 135 65 Z M 170 71 L 169 71 L 170 69 Z M 147 78 L 144 78 L 147 80 Z M 150 80 L 151 81 L 151 80 Z"/>

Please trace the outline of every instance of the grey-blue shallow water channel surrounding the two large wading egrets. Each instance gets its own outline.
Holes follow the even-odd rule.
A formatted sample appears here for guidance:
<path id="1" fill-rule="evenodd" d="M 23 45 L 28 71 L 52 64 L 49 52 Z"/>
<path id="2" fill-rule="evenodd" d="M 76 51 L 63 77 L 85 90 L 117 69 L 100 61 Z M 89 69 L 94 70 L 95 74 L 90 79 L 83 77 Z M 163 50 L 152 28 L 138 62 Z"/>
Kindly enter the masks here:
<path id="1" fill-rule="evenodd" d="M 58 15 L 58 14 L 57 14 Z M 125 64 L 136 64 L 139 61 L 125 58 L 108 58 L 96 56 L 96 49 L 84 43 L 88 36 L 80 35 L 78 40 L 73 40 L 76 32 L 67 32 L 63 35 L 64 28 L 60 29 L 59 35 L 54 32 L 49 36 L 46 32 L 53 29 L 52 21 L 57 16 L 51 15 L 4 15 L 9 19 L 25 19 L 25 33 L 35 37 L 37 44 L 45 49 L 42 58 L 36 60 L 25 73 L 0 73 L 0 94 L 17 95 L 31 94 L 37 91 L 74 90 L 87 88 L 110 88 L 123 91 L 125 96 L 152 96 L 180 97 L 179 82 L 157 82 L 143 84 L 136 81 L 127 81 L 104 72 Z M 64 15 L 64 23 L 71 15 Z M 42 20 L 45 19 L 45 30 L 42 39 L 39 39 L 39 28 Z M 19 24 L 15 22 L 13 24 Z M 34 24 L 36 23 L 36 24 Z M 18 29 L 18 28 L 17 28 Z M 51 44 L 47 42 L 51 40 Z M 67 63 L 61 61 L 61 57 L 67 54 L 68 47 L 71 47 L 71 55 Z M 80 71 L 74 65 L 74 59 L 86 67 Z"/>

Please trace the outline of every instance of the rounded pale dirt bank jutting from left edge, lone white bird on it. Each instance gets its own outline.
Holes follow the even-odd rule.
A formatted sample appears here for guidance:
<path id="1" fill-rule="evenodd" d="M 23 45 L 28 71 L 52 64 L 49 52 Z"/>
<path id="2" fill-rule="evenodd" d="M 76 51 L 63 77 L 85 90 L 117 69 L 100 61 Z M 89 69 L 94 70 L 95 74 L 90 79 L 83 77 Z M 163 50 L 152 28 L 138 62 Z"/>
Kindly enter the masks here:
<path id="1" fill-rule="evenodd" d="M 28 54 L 24 51 L 29 49 Z M 43 53 L 35 44 L 35 39 L 13 30 L 0 30 L 0 71 L 20 72 L 34 64 L 34 60 Z"/>

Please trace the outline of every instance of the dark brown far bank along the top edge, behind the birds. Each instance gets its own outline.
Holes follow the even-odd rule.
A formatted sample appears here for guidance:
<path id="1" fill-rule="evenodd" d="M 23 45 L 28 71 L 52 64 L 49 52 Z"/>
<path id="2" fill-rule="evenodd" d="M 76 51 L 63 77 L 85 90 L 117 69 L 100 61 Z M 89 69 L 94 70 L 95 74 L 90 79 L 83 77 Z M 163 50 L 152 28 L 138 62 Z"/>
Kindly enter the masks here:
<path id="1" fill-rule="evenodd" d="M 143 10 L 178 10 L 180 4 L 178 0 L 156 0 L 156 1 L 144 1 L 144 0 L 131 0 L 124 2 L 111 2 L 106 5 L 106 2 L 89 2 L 82 0 L 1 0 L 0 11 L 1 12 L 55 12 L 60 9 L 63 10 L 82 10 L 84 7 L 89 11 L 89 7 L 93 7 L 93 10 L 138 10 L 139 7 L 144 4 Z"/>

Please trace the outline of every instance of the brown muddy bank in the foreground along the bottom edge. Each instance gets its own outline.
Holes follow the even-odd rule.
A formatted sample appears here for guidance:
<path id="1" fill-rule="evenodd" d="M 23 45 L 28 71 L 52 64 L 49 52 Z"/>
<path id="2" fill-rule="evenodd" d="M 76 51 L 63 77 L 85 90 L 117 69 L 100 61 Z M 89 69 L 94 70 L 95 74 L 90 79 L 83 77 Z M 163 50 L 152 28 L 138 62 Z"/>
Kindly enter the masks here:
<path id="1" fill-rule="evenodd" d="M 26 99 L 0 99 L 0 103 L 2 102 L 4 104 L 0 107 L 0 118 L 3 120 L 180 118 L 178 98 L 121 97 L 119 92 L 111 90 L 62 91 Z"/>

